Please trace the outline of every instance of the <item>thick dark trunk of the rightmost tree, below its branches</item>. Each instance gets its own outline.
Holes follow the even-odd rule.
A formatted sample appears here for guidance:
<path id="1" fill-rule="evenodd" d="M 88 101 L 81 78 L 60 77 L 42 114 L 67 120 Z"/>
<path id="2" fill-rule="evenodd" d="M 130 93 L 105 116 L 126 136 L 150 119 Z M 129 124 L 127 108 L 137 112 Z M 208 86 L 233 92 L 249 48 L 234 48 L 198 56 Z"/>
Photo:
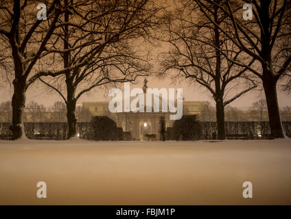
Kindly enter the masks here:
<path id="1" fill-rule="evenodd" d="M 264 69 L 270 71 L 268 69 Z M 277 99 L 277 79 L 271 71 L 263 74 L 263 86 L 266 94 L 271 138 L 284 138 Z"/>

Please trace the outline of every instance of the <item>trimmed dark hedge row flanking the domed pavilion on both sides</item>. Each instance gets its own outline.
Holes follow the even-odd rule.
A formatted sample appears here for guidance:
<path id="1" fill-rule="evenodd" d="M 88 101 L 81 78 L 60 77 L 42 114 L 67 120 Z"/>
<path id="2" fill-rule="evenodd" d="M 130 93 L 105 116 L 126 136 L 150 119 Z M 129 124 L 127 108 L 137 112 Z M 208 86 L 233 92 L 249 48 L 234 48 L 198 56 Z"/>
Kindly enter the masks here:
<path id="1" fill-rule="evenodd" d="M 97 121 L 100 123 L 97 124 Z M 109 124 L 108 128 L 104 127 L 106 124 Z M 174 127 L 167 127 L 166 140 L 216 139 L 216 123 L 198 122 L 194 117 L 183 116 L 174 124 Z M 286 136 L 291 138 L 291 122 L 283 122 L 282 125 Z M 9 126 L 10 123 L 0 123 L 0 140 L 10 140 L 12 133 Z M 30 139 L 67 140 L 67 123 L 24 123 L 24 129 L 26 136 Z M 270 138 L 268 122 L 226 122 L 225 129 L 228 139 Z M 97 118 L 95 123 L 77 123 L 77 132 L 80 134 L 80 138 L 86 140 L 132 140 L 130 131 L 122 131 L 121 134 L 121 128 L 117 128 L 115 122 L 109 118 L 101 120 Z"/>

